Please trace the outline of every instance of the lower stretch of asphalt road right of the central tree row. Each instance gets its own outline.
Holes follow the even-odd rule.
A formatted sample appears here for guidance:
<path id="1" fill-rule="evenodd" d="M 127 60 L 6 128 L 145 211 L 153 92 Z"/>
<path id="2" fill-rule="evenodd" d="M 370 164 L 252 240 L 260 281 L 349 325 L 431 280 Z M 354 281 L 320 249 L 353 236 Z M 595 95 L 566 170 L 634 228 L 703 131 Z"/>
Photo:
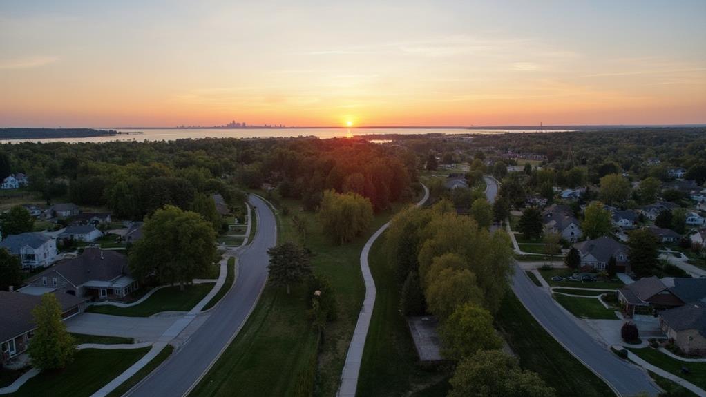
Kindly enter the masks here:
<path id="1" fill-rule="evenodd" d="M 515 267 L 513 291 L 549 334 L 587 367 L 597 372 L 621 396 L 634 396 L 645 391 L 650 396 L 659 394 L 647 373 L 618 358 L 595 341 L 569 317 L 570 314 L 554 302 L 549 293 L 535 286 L 520 267 Z"/>

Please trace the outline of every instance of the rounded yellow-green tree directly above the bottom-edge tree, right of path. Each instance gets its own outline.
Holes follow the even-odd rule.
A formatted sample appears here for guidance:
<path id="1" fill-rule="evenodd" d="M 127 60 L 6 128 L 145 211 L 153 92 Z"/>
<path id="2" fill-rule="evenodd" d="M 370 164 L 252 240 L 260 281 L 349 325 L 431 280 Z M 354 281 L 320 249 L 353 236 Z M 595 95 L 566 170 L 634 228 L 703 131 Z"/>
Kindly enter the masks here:
<path id="1" fill-rule="evenodd" d="M 478 350 L 498 349 L 503 340 L 493 329 L 493 316 L 472 303 L 459 305 L 439 327 L 443 355 L 462 360 Z"/>

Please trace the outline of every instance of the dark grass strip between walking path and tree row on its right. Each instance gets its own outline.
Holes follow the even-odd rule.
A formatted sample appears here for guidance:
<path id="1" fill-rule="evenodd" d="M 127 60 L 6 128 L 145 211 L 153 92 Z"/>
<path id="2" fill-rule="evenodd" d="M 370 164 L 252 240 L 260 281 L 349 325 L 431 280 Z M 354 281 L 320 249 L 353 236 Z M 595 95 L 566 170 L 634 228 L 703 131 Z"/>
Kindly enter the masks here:
<path id="1" fill-rule="evenodd" d="M 369 257 L 377 295 L 357 393 L 359 396 L 405 396 L 409 391 L 418 390 L 420 396 L 433 396 L 426 394 L 426 389 L 431 392 L 440 379 L 447 379 L 449 374 L 443 369 L 425 371 L 417 365 L 419 358 L 407 320 L 398 311 L 400 286 L 394 264 L 385 256 L 384 237 L 383 234 L 378 238 Z"/>

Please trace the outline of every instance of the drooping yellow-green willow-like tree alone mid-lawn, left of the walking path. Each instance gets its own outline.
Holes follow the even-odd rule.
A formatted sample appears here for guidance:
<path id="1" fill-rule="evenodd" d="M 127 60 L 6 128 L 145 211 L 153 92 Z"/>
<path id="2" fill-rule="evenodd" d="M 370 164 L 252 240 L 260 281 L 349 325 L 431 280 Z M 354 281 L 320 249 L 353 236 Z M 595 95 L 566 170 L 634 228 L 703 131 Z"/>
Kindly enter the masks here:
<path id="1" fill-rule="evenodd" d="M 323 233 L 338 244 L 348 243 L 361 236 L 373 221 L 370 200 L 355 193 L 323 193 L 318 211 Z"/>

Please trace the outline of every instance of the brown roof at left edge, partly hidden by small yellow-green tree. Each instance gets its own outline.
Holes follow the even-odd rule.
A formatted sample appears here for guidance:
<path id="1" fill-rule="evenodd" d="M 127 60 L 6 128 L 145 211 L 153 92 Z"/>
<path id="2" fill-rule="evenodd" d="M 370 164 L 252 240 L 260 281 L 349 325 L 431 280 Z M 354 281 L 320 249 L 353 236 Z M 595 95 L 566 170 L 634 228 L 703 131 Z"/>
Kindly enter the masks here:
<path id="1" fill-rule="evenodd" d="M 68 295 L 68 293 L 55 295 L 59 299 L 63 312 L 83 302 L 83 298 Z M 34 329 L 32 309 L 41 301 L 42 297 L 39 295 L 0 291 L 0 342 Z"/>

